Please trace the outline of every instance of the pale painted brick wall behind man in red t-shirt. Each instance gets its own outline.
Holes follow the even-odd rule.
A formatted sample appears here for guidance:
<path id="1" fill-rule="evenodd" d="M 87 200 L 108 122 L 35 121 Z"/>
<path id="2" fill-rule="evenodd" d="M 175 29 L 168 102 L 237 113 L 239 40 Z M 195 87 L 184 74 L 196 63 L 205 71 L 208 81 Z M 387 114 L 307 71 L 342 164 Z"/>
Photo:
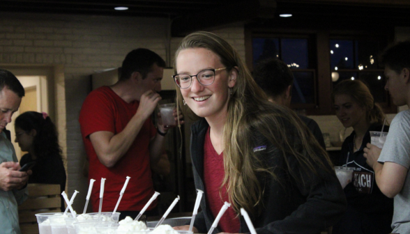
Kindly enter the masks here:
<path id="1" fill-rule="evenodd" d="M 55 123 L 66 156 L 68 194 L 77 195 L 75 210 L 84 207 L 88 180 L 82 176 L 86 157 L 78 116 L 91 91 L 89 75 L 121 66 L 130 50 L 145 47 L 166 59 L 167 20 L 84 15 L 0 15 L 0 65 L 56 65 Z M 215 33 L 227 38 L 245 57 L 243 26 Z M 172 38 L 171 57 L 181 38 Z M 172 64 L 172 61 L 169 61 Z"/>

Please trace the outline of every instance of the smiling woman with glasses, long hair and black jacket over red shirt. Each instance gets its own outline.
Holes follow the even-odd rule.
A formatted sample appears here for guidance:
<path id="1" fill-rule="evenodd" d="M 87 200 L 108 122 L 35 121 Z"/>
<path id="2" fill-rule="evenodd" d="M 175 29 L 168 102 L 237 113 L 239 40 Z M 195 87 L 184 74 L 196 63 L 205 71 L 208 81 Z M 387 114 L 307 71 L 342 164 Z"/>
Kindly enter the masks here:
<path id="1" fill-rule="evenodd" d="M 192 33 L 175 61 L 178 102 L 199 119 L 191 157 L 205 196 L 195 231 L 208 232 L 224 201 L 231 208 L 216 233 L 248 232 L 241 208 L 258 233 L 319 233 L 342 217 L 346 201 L 326 151 L 296 114 L 267 101 L 226 40 Z"/>

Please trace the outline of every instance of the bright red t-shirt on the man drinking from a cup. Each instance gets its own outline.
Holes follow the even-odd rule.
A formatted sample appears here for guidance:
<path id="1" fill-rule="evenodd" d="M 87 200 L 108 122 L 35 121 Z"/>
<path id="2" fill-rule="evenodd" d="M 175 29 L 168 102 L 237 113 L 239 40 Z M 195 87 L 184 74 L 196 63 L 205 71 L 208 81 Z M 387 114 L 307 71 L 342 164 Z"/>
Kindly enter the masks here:
<path id="1" fill-rule="evenodd" d="M 117 210 L 142 210 L 155 192 L 149 164 L 149 141 L 155 137 L 156 133 L 151 118 L 145 121 L 126 155 L 111 168 L 100 163 L 89 138 L 93 132 L 100 131 L 118 134 L 135 115 L 138 107 L 139 102 L 127 103 L 107 86 L 92 91 L 82 105 L 79 124 L 90 164 L 89 179 L 96 180 L 91 192 L 94 212 L 98 212 L 100 204 L 101 178 L 107 179 L 102 201 L 102 211 L 105 212 L 114 210 L 127 176 L 131 178 Z M 154 208 L 155 205 L 154 202 L 148 210 Z"/>

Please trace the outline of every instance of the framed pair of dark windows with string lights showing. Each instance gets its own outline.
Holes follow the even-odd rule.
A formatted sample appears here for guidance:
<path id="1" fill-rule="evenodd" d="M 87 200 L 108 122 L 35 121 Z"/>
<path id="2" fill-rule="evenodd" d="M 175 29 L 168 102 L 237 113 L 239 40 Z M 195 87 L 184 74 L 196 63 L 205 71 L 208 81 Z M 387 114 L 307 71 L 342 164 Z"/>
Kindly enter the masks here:
<path id="1" fill-rule="evenodd" d="M 308 115 L 334 114 L 331 93 L 344 79 L 364 81 L 385 113 L 396 113 L 384 91 L 384 69 L 378 63 L 387 45 L 386 34 L 368 31 L 245 29 L 250 70 L 269 57 L 287 63 L 294 74 L 291 108 L 305 109 Z"/>

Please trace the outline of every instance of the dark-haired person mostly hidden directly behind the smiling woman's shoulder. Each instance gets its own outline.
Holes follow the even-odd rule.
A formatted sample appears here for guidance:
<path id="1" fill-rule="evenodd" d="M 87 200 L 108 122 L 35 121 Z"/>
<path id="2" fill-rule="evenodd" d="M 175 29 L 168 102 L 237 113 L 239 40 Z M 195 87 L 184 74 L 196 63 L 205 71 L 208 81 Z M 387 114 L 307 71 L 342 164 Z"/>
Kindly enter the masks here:
<path id="1" fill-rule="evenodd" d="M 255 79 L 259 87 L 266 93 L 270 102 L 281 104 L 284 107 L 290 107 L 294 75 L 286 63 L 279 59 L 264 59 L 255 66 L 253 79 Z M 323 134 L 316 121 L 306 116 L 298 116 L 303 123 L 309 127 L 320 146 L 326 149 Z"/>

